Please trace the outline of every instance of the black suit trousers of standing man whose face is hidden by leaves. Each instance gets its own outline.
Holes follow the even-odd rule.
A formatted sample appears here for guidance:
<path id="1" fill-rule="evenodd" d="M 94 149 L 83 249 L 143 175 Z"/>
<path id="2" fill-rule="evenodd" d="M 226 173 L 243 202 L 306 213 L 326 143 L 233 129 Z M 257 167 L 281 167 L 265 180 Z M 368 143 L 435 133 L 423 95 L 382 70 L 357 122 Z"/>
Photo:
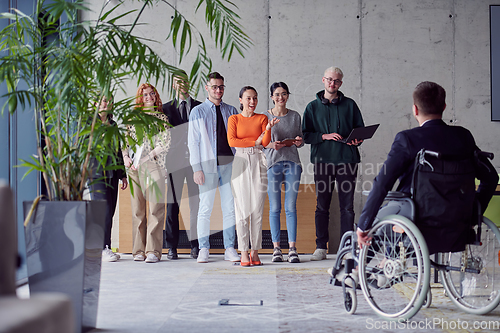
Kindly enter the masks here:
<path id="1" fill-rule="evenodd" d="M 193 170 L 186 167 L 167 177 L 167 217 L 165 219 L 165 238 L 168 248 L 176 249 L 179 246 L 179 204 L 186 179 L 189 196 L 189 229 L 188 238 L 191 248 L 198 247 L 197 219 L 200 198 L 198 185 L 193 180 Z"/>

